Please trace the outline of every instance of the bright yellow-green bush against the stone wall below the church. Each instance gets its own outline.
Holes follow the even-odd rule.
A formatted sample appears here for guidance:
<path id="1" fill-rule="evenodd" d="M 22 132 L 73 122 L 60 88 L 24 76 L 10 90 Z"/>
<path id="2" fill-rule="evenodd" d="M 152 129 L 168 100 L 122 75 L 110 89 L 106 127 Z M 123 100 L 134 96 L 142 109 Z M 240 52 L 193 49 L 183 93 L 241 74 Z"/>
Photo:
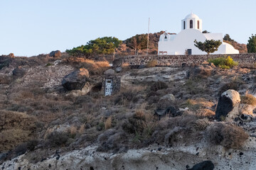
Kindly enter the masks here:
<path id="1" fill-rule="evenodd" d="M 215 66 L 218 66 L 222 69 L 230 69 L 238 65 L 238 62 L 234 62 L 233 58 L 231 58 L 230 56 L 210 59 L 208 60 L 208 62 L 212 62 L 213 64 L 215 64 Z"/>

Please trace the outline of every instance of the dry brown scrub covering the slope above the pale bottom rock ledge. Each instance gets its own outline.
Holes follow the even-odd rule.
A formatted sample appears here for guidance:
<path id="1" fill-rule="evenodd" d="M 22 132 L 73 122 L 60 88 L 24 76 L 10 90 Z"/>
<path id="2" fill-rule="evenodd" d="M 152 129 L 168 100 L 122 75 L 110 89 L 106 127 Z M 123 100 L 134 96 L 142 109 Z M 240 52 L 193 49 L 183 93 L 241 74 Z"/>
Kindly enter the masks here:
<path id="1" fill-rule="evenodd" d="M 124 63 L 122 71 L 114 73 L 122 77 L 121 91 L 106 97 L 101 91 L 102 77 L 110 64 L 104 58 L 88 60 L 66 54 L 56 65 L 53 58 L 47 58 L 29 62 L 18 59 L 18 65 L 26 69 L 23 77 L 11 75 L 14 68 L 10 66 L 1 69 L 0 152 L 9 156 L 0 162 L 25 152 L 31 155 L 28 162 L 40 162 L 58 152 L 90 145 L 113 153 L 149 145 L 186 147 L 200 142 L 236 149 L 248 137 L 238 128 L 242 121 L 219 125 L 215 107 L 223 91 L 240 91 L 252 84 L 249 69 L 218 69 L 210 64 L 153 67 L 154 61 L 152 67 L 131 69 Z M 53 79 L 53 71 L 69 74 L 80 68 L 88 70 L 90 83 L 95 85 L 87 94 L 63 89 L 60 81 L 65 75 L 46 86 Z M 49 77 L 36 79 L 37 72 Z M 242 97 L 242 103 L 250 103 L 250 98 Z"/>

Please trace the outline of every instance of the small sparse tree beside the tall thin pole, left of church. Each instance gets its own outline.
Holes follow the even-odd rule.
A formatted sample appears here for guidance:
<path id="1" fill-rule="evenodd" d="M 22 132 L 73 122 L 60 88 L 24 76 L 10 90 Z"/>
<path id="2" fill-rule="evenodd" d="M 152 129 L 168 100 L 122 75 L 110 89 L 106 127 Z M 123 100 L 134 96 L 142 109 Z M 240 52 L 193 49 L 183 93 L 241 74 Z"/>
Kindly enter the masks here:
<path id="1" fill-rule="evenodd" d="M 125 40 L 127 47 L 135 50 L 135 55 L 138 55 L 139 50 L 146 49 L 147 36 L 146 34 L 135 35 L 132 38 Z"/>

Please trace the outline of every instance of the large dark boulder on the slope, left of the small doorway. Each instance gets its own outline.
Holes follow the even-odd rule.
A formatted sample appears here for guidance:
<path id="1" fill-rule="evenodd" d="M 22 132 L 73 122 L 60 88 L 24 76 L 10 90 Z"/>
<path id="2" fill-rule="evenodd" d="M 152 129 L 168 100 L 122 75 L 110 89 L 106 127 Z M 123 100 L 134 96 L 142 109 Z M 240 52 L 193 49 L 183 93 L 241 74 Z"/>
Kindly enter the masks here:
<path id="1" fill-rule="evenodd" d="M 82 90 L 85 86 L 89 77 L 89 72 L 87 69 L 80 69 L 75 72 L 71 72 L 70 74 L 66 75 L 61 81 L 61 84 L 65 89 L 68 91 L 72 90 Z"/>

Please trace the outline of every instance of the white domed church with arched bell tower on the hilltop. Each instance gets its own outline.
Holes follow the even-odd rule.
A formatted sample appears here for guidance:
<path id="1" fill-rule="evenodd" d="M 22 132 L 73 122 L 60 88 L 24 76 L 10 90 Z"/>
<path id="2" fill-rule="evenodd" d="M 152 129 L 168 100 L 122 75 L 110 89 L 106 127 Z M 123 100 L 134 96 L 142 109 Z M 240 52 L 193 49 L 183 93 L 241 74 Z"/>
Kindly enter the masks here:
<path id="1" fill-rule="evenodd" d="M 181 21 L 181 32 L 177 35 L 164 33 L 159 39 L 159 55 L 207 55 L 198 49 L 194 40 L 204 42 L 205 40 L 220 40 L 222 44 L 218 47 L 217 54 L 239 54 L 238 50 L 223 42 L 222 33 L 202 33 L 202 20 L 196 14 L 189 14 Z"/>

